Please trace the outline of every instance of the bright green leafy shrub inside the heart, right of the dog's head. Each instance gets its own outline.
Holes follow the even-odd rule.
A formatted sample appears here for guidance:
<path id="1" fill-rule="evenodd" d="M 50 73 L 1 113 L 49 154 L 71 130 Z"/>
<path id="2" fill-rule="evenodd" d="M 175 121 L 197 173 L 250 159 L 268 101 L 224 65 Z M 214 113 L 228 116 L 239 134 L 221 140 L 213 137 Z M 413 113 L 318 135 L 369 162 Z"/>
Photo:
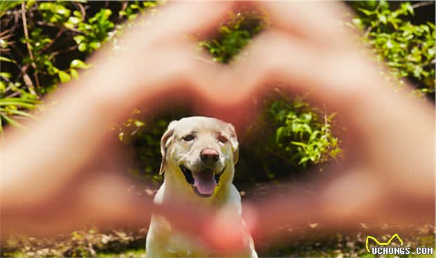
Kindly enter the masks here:
<path id="1" fill-rule="evenodd" d="M 338 138 L 331 133 L 335 114 L 321 113 L 299 98 L 293 102 L 276 100 L 268 112 L 277 128 L 272 148 L 287 161 L 306 167 L 336 158 L 340 153 Z"/>

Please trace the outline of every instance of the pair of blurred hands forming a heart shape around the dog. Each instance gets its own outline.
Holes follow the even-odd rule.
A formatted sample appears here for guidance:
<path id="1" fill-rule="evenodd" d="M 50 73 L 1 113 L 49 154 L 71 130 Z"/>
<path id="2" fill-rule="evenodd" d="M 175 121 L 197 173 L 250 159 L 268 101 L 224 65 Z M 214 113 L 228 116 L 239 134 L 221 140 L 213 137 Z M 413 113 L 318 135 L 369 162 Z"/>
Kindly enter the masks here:
<path id="1" fill-rule="evenodd" d="M 239 55 L 237 62 L 204 62 L 208 57 L 195 50 L 185 35 L 209 35 L 229 10 L 241 6 L 266 10 L 271 28 L 253 39 L 244 50 L 248 54 Z M 145 216 L 153 211 L 165 214 L 181 228 L 214 232 L 204 234 L 213 246 L 231 248 L 228 232 L 234 232 L 237 239 L 238 227 L 226 227 L 222 218 L 210 223 L 201 219 L 198 208 L 156 207 L 131 198 L 123 194 L 122 181 L 108 175 L 111 166 L 94 169 L 102 173 L 84 171 L 95 167 L 105 146 L 109 133 L 102 128 L 140 104 L 159 109 L 188 99 L 195 113 L 226 120 L 240 130 L 256 113 L 252 98 L 260 98 L 268 91 L 267 85 L 273 84 L 282 85 L 287 93 L 310 91 L 312 97 L 339 113 L 341 124 L 348 129 L 346 161 L 336 167 L 341 172 L 309 184 L 315 194 L 289 193 L 282 199 L 273 196 L 246 205 L 249 229 L 266 235 L 282 223 L 306 223 L 309 215 L 327 227 L 366 219 L 416 219 L 404 203 L 420 205 L 418 214 L 432 216 L 434 142 L 427 141 L 434 137 L 433 111 L 428 104 L 405 99 L 384 86 L 386 82 L 374 71 L 372 62 L 361 56 L 354 39 L 338 32 L 343 8 L 333 2 L 171 3 L 158 15 L 129 28 L 122 50 L 112 56 L 109 49 L 100 51 L 93 57 L 93 73 L 57 95 L 60 105 L 54 114 L 46 114 L 30 133 L 15 133 L 6 141 L 2 169 L 8 183 L 3 187 L 3 218 L 6 214 L 11 228 L 32 231 L 44 225 L 46 210 L 53 204 L 62 210 L 68 203 L 67 212 L 59 213 L 64 218 L 60 224 L 66 228 L 83 220 L 145 225 Z M 424 116 L 414 116 L 422 111 Z M 409 125 L 420 128 L 421 135 L 410 137 Z M 84 143 L 78 144 L 78 139 Z M 38 156 L 19 163 L 17 157 L 24 151 Z M 59 170 L 62 173 L 56 174 Z M 22 181 L 23 175 L 30 179 Z M 80 182 L 75 184 L 80 187 L 71 187 L 71 181 Z M 28 209 L 35 207 L 41 216 L 28 225 L 14 216 L 28 214 Z M 199 223 L 187 225 L 186 221 L 196 221 L 192 216 Z M 205 231 L 206 227 L 214 230 Z M 46 226 L 48 232 L 55 228 Z M 229 237 L 217 239 L 215 236 L 221 235 L 217 232 L 227 232 Z"/>

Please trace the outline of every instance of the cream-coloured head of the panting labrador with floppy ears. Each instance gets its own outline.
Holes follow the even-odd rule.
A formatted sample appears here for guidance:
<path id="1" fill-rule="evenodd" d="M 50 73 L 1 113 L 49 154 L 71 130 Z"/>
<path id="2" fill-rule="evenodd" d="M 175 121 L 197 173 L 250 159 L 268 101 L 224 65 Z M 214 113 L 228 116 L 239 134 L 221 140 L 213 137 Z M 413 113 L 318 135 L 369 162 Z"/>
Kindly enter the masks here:
<path id="1" fill-rule="evenodd" d="M 194 116 L 172 121 L 161 139 L 161 174 L 167 167 L 183 176 L 201 197 L 215 191 L 221 176 L 238 159 L 238 142 L 233 125 L 215 118 Z M 229 172 L 229 173 L 230 173 Z M 225 176 L 232 179 L 233 174 Z"/>

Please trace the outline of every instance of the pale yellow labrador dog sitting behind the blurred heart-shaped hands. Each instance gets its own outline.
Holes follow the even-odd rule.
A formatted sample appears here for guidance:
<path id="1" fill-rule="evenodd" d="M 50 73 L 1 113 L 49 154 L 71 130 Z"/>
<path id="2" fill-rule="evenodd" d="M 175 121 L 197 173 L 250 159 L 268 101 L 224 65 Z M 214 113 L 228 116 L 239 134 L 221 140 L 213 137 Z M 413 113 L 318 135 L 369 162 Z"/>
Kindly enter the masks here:
<path id="1" fill-rule="evenodd" d="M 161 174 L 155 203 L 186 199 L 199 205 L 234 210 L 241 215 L 241 198 L 233 185 L 238 142 L 233 125 L 215 118 L 190 117 L 173 121 L 161 139 Z M 253 239 L 245 239 L 244 257 L 257 257 Z M 152 216 L 147 257 L 217 256 L 199 241 L 174 230 L 162 216 Z"/>

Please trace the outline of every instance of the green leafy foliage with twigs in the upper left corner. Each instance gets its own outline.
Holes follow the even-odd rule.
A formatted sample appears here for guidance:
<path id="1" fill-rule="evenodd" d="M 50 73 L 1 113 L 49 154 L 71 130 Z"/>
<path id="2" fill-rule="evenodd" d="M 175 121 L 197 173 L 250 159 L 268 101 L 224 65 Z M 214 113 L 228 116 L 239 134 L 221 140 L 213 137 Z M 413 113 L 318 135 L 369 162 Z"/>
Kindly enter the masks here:
<path id="1" fill-rule="evenodd" d="M 111 37 L 115 24 L 157 4 L 118 2 L 116 17 L 100 3 L 0 1 L 0 134 L 5 125 L 21 126 L 19 120 L 33 117 L 30 111 L 38 107 L 43 95 L 89 68 L 84 60 Z M 98 11 L 89 15 L 92 10 Z"/>

